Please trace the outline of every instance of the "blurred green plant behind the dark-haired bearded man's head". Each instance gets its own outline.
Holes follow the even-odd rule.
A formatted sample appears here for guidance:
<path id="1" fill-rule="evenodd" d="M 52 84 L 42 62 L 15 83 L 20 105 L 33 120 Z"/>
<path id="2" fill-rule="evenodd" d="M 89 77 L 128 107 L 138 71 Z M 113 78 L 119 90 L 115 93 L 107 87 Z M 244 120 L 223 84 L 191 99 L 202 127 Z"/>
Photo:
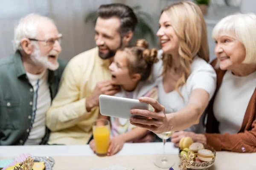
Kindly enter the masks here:
<path id="1" fill-rule="evenodd" d="M 134 37 L 131 43 L 134 43 L 138 39 L 151 40 L 155 45 L 155 34 L 149 23 L 153 23 L 153 19 L 150 14 L 141 10 L 141 6 L 132 7 L 134 13 L 137 15 L 138 24 L 134 30 Z M 85 23 L 92 22 L 95 26 L 97 20 L 97 11 L 90 11 L 85 17 Z M 149 22 L 149 23 L 148 23 Z"/>

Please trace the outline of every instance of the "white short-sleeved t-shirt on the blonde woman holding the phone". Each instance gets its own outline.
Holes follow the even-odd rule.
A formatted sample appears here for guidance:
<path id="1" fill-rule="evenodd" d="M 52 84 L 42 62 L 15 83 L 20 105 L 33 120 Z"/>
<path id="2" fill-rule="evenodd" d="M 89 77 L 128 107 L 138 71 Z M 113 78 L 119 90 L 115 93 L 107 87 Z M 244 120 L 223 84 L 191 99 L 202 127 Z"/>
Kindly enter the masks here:
<path id="1" fill-rule="evenodd" d="M 162 54 L 159 51 L 159 56 Z M 180 93 L 183 98 L 178 94 L 176 90 L 166 93 L 163 88 L 163 77 L 159 77 L 163 71 L 163 60 L 160 59 L 154 65 L 153 78 L 158 84 L 158 99 L 159 103 L 166 108 L 166 113 L 177 112 L 180 109 L 186 107 L 189 102 L 189 96 L 195 89 L 204 89 L 208 92 L 210 98 L 212 98 L 216 89 L 216 73 L 210 64 L 200 57 L 195 57 L 191 64 L 191 74 L 189 75 L 186 84 L 180 87 Z M 201 116 L 200 123 L 193 125 L 186 130 L 196 133 L 204 132 L 204 121 Z"/>

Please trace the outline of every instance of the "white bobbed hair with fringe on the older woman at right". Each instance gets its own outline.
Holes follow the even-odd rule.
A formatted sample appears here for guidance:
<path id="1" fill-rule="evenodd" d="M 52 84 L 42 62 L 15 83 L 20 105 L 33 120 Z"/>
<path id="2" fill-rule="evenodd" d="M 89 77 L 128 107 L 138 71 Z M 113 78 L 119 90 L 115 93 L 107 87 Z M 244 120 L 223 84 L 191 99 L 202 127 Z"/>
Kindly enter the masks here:
<path id="1" fill-rule="evenodd" d="M 212 38 L 227 35 L 238 39 L 245 47 L 243 63 L 256 63 L 256 15 L 233 14 L 221 19 L 212 31 Z"/>

